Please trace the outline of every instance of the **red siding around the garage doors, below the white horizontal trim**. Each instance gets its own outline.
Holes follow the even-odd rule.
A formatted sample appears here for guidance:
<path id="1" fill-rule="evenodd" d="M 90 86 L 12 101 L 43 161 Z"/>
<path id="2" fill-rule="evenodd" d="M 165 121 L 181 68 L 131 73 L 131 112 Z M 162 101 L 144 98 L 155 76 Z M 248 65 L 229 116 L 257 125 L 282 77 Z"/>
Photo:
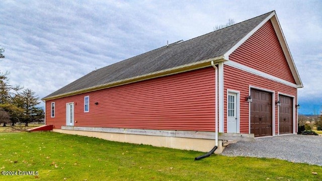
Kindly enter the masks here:
<path id="1" fill-rule="evenodd" d="M 249 96 L 250 85 L 269 89 L 275 92 L 275 101 L 278 100 L 278 93 L 287 94 L 295 97 L 295 103 L 297 102 L 297 89 L 267 78 L 260 77 L 248 73 L 246 71 L 239 70 L 237 68 L 224 65 L 224 110 L 227 109 L 227 89 L 233 89 L 240 91 L 240 133 L 249 133 L 249 103 L 246 102 L 246 97 Z M 295 109 L 297 112 L 297 110 Z M 295 115 L 297 113 L 295 112 Z M 278 131 L 278 107 L 275 107 L 275 133 Z M 297 118 L 295 118 L 297 120 Z M 295 124 L 297 125 L 297 123 Z M 227 130 L 227 115 L 224 112 L 224 131 Z M 295 129 L 296 130 L 296 129 Z"/>

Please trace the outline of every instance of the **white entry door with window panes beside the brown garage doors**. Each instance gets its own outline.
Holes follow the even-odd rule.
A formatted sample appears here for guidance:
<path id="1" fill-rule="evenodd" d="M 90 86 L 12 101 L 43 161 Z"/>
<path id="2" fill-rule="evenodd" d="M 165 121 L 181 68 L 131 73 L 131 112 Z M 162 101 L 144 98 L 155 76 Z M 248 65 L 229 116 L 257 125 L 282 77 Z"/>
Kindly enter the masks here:
<path id="1" fill-rule="evenodd" d="M 237 94 L 228 93 L 227 133 L 237 133 Z"/>

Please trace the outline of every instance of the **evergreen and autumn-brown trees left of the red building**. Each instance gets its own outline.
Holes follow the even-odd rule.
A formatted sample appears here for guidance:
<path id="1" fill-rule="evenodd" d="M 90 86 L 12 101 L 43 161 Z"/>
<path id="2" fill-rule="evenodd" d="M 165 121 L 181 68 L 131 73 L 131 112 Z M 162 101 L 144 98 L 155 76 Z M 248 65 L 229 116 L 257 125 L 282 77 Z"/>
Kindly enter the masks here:
<path id="1" fill-rule="evenodd" d="M 5 49 L 0 47 L 0 58 L 5 58 Z M 31 89 L 9 83 L 9 72 L 0 70 L 0 124 L 39 122 L 45 117 L 44 110 L 38 108 L 40 99 Z"/>

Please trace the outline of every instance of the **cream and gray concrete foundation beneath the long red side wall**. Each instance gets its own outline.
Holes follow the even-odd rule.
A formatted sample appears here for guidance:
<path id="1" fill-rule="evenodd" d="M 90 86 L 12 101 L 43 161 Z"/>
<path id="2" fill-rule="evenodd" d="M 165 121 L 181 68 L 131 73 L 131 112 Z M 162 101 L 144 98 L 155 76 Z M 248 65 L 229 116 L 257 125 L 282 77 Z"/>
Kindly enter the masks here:
<path id="1" fill-rule="evenodd" d="M 215 146 L 215 132 L 209 131 L 148 130 L 76 126 L 62 126 L 61 129 L 53 129 L 53 131 L 65 134 L 96 137 L 110 141 L 202 152 L 208 152 Z M 227 142 L 227 140 L 229 141 Z M 215 153 L 220 154 L 231 140 L 253 141 L 254 134 L 219 133 L 218 148 Z"/>

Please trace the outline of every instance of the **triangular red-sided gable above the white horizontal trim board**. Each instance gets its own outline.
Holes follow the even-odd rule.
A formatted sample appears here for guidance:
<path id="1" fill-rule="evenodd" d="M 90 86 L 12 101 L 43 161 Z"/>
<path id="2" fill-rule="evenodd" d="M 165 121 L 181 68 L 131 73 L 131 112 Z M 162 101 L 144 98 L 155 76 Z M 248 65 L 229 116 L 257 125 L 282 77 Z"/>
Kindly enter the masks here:
<path id="1" fill-rule="evenodd" d="M 295 83 L 270 20 L 231 53 L 229 59 Z"/>

